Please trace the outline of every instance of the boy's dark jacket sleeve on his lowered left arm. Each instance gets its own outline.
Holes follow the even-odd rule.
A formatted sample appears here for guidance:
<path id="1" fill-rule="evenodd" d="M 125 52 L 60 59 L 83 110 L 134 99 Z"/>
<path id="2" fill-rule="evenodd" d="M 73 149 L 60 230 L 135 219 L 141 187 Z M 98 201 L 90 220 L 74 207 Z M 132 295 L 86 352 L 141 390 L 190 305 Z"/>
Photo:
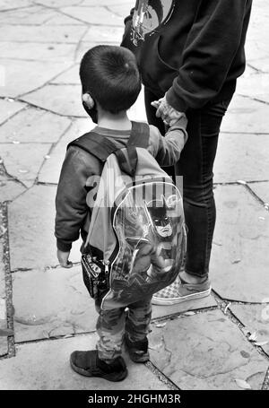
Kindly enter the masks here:
<path id="1" fill-rule="evenodd" d="M 55 236 L 57 248 L 68 252 L 79 239 L 89 207 L 86 204 L 86 180 L 100 174 L 99 161 L 79 148 L 70 147 L 65 155 L 56 192 Z"/>

